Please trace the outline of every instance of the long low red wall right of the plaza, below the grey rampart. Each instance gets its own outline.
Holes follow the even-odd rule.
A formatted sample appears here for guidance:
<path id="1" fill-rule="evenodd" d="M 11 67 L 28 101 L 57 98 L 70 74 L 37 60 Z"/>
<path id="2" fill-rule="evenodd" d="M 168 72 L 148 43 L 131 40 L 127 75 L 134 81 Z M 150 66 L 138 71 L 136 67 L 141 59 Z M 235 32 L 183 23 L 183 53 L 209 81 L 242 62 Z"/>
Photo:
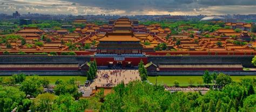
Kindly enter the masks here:
<path id="1" fill-rule="evenodd" d="M 159 71 L 242 71 L 242 68 L 159 68 Z"/>

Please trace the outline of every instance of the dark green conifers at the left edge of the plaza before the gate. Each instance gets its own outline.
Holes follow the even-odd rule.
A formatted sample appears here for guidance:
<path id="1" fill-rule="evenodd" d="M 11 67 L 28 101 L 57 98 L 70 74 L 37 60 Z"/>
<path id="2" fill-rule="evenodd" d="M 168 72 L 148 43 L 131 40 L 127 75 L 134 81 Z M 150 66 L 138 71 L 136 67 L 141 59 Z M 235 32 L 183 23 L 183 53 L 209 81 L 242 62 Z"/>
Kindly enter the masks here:
<path id="1" fill-rule="evenodd" d="M 97 71 L 98 71 L 98 69 L 97 69 L 96 60 L 90 61 L 89 62 L 89 70 L 86 73 L 87 80 L 89 80 L 89 81 L 94 80 L 96 78 Z"/>

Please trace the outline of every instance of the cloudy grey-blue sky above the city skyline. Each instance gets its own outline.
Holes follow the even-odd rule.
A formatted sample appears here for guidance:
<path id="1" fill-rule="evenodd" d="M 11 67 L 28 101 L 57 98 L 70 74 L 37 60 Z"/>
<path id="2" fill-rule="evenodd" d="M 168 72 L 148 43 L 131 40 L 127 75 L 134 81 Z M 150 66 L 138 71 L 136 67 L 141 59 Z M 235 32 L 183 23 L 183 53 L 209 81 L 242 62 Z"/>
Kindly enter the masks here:
<path id="1" fill-rule="evenodd" d="M 256 0 L 0 0 L 0 13 L 72 15 L 256 14 Z"/>

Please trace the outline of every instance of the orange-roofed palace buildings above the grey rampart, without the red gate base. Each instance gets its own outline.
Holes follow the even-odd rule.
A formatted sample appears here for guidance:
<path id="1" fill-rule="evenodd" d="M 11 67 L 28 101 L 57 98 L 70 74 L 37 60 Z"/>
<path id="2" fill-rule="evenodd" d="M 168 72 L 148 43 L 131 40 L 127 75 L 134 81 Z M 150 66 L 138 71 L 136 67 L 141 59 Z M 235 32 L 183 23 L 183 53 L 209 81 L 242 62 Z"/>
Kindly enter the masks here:
<path id="1" fill-rule="evenodd" d="M 151 55 L 163 55 L 160 52 L 190 55 L 206 55 L 207 53 L 204 52 L 226 52 L 224 54 L 227 55 L 228 52 L 251 53 L 256 47 L 256 43 L 251 41 L 253 33 L 248 33 L 251 24 L 244 23 L 226 23 L 225 26 L 231 26 L 232 29 L 219 29 L 215 32 L 200 32 L 198 29 L 188 28 L 181 30 L 179 34 L 171 34 L 172 31 L 169 28 L 162 28 L 159 24 L 146 26 L 128 18 L 110 20 L 109 24 L 102 26 L 87 23 L 83 19 L 75 20 L 73 23 L 86 24 L 86 26 L 76 27 L 72 33 L 67 29 L 43 31 L 37 27 L 24 27 L 16 34 L 22 36 L 26 44 L 22 45 L 21 39 L 9 39 L 10 46 L 6 47 L 6 44 L 2 43 L 0 50 L 28 53 L 83 51 L 84 54 L 90 54 L 86 53 L 88 51 L 100 54 L 145 52 Z M 179 29 L 182 27 L 190 27 L 190 25 L 180 25 Z M 234 29 L 242 31 L 235 32 Z M 38 41 L 43 44 L 36 45 Z M 156 50 L 156 47 L 163 43 L 165 48 Z M 90 50 L 85 50 L 86 44 Z M 202 52 L 202 54 L 193 54 L 193 52 Z"/>

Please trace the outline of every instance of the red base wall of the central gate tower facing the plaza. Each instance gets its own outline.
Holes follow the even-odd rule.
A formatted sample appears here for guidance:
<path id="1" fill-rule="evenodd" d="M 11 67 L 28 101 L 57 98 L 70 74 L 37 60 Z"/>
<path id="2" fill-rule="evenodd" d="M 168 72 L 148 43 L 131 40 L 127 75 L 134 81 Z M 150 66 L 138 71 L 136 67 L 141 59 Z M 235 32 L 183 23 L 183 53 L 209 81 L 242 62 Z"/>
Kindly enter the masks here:
<path id="1" fill-rule="evenodd" d="M 91 61 L 96 59 L 97 66 L 108 66 L 109 62 L 113 62 L 113 65 L 116 65 L 118 61 L 115 61 L 113 57 L 96 57 L 91 58 Z M 125 66 L 127 64 L 127 61 L 131 62 L 131 65 L 138 66 L 140 60 L 144 62 L 144 64 L 147 64 L 147 57 L 129 57 L 125 58 L 125 60 L 122 61 L 122 65 Z"/>

